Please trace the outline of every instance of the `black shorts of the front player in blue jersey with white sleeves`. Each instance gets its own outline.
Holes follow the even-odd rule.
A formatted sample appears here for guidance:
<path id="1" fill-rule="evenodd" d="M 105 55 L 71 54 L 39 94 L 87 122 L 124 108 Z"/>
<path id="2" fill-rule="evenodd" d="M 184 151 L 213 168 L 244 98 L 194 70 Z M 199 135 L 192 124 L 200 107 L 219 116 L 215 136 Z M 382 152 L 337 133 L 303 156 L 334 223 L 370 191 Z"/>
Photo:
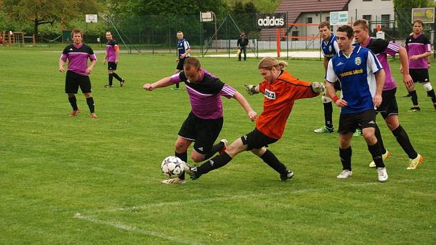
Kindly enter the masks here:
<path id="1" fill-rule="evenodd" d="M 365 129 L 375 127 L 376 111 L 369 109 L 354 114 L 340 114 L 339 116 L 339 134 L 354 133 L 358 127 Z"/>

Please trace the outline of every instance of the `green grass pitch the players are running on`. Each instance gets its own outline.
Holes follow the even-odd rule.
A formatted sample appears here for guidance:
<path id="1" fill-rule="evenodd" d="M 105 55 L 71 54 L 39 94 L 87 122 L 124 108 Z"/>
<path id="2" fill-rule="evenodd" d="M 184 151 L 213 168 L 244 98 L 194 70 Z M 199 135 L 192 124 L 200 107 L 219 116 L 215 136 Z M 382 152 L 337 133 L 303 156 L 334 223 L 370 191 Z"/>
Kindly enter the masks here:
<path id="1" fill-rule="evenodd" d="M 336 179 L 338 134 L 313 133 L 324 120 L 320 98 L 311 98 L 296 102 L 284 137 L 269 148 L 295 172 L 291 181 L 244 152 L 197 181 L 163 185 L 160 164 L 174 154 L 190 104 L 184 85 L 152 92 L 142 85 L 171 75 L 174 55 L 122 54 L 126 86 L 105 89 L 99 54 L 91 82 L 100 118 L 93 120 L 80 94 L 82 114 L 68 116 L 60 52 L 0 48 L 0 244 L 435 244 L 436 112 L 420 85 L 421 112 L 407 112 L 398 61 L 391 66 L 399 119 L 425 158 L 417 170 L 406 170 L 408 157 L 379 116 L 392 152 L 389 180 L 379 183 L 367 167 L 361 137 L 353 138 L 354 175 Z M 258 60 L 201 62 L 244 95 L 244 83 L 260 82 Z M 289 64 L 302 80 L 323 79 L 320 61 Z M 262 96 L 246 98 L 260 114 Z M 233 141 L 254 123 L 236 100 L 223 100 L 219 137 Z"/>

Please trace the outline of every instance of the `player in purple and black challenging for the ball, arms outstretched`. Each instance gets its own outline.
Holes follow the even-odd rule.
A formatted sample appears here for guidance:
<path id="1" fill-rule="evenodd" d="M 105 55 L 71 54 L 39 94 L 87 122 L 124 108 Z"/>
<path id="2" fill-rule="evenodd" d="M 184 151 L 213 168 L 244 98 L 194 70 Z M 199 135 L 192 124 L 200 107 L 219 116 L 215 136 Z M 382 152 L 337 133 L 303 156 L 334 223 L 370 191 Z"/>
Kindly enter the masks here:
<path id="1" fill-rule="evenodd" d="M 200 61 L 189 57 L 183 64 L 183 71 L 171 77 L 162 78 L 152 84 L 144 84 L 143 88 L 152 91 L 172 84 L 184 82 L 190 98 L 191 112 L 185 119 L 175 143 L 175 156 L 185 163 L 188 161 L 188 147 L 194 143 L 191 158 L 198 163 L 226 149 L 227 140 L 221 140 L 216 145 L 223 125 L 223 107 L 221 96 L 235 98 L 246 111 L 248 118 L 254 121 L 257 113 L 241 93 L 221 82 L 219 78 L 201 68 Z M 166 179 L 162 183 L 185 183 L 185 174 L 174 179 Z"/>

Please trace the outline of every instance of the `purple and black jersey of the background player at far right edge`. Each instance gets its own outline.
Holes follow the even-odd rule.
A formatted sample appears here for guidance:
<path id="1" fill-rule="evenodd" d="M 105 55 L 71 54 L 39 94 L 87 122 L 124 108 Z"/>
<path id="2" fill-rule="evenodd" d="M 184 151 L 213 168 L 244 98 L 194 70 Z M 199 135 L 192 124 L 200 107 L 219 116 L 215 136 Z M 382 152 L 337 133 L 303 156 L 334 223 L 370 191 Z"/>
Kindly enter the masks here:
<path id="1" fill-rule="evenodd" d="M 424 35 L 411 35 L 406 39 L 406 45 L 404 46 L 410 56 L 421 55 L 426 52 L 431 52 L 430 40 Z M 418 60 L 409 59 L 409 69 L 428 69 L 427 57 L 419 58 Z"/>

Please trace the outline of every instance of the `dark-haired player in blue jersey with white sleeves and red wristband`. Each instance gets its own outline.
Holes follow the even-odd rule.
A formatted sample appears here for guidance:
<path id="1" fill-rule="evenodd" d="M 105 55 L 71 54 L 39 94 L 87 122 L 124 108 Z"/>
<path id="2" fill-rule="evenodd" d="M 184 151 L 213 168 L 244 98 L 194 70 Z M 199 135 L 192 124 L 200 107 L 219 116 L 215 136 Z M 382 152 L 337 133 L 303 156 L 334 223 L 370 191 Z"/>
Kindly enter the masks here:
<path id="1" fill-rule="evenodd" d="M 367 48 L 352 45 L 353 28 L 340 26 L 336 33 L 339 53 L 331 58 L 327 66 L 327 96 L 340 107 L 339 156 L 343 172 L 338 178 L 352 176 L 351 141 L 356 128 L 361 127 L 363 138 L 377 167 L 379 181 L 388 180 L 381 146 L 375 136 L 376 111 L 381 104 L 381 93 L 385 82 L 385 72 L 377 57 Z M 342 89 L 340 98 L 336 96 L 333 83 L 336 79 Z"/>

